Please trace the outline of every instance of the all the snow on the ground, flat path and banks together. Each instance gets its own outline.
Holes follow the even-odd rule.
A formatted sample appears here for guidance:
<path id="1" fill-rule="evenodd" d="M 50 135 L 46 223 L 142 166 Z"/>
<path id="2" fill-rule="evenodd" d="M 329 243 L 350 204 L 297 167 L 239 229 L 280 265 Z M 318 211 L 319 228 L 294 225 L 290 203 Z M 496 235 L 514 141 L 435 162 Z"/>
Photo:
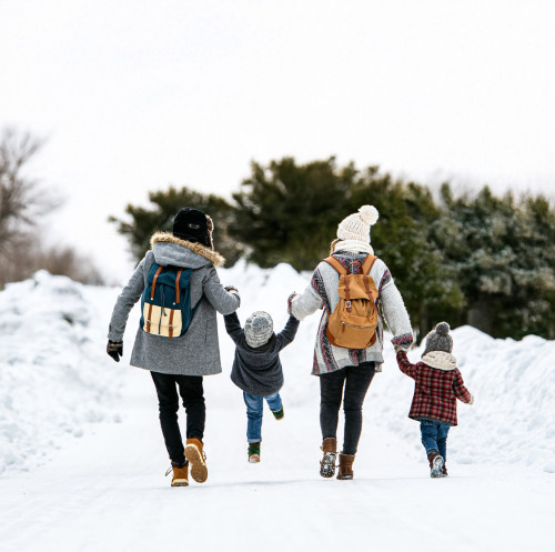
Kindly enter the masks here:
<path id="1" fill-rule="evenodd" d="M 284 264 L 238 264 L 220 275 L 240 289 L 243 322 L 268 310 L 276 330 L 286 297 L 307 282 Z M 365 402 L 355 480 L 343 482 L 317 473 L 310 370 L 320 314 L 282 353 L 285 419 L 265 416 L 259 465 L 246 462 L 244 405 L 229 380 L 233 345 L 222 324 L 224 373 L 205 379 L 209 480 L 172 489 L 150 377 L 104 352 L 117 294 L 46 273 L 0 293 L 2 552 L 553 549 L 555 342 L 454 330 L 476 402 L 458 405 L 442 480 L 427 476 L 418 425 L 406 418 L 413 382 L 387 344 Z M 418 350 L 408 357 L 417 360 Z"/>

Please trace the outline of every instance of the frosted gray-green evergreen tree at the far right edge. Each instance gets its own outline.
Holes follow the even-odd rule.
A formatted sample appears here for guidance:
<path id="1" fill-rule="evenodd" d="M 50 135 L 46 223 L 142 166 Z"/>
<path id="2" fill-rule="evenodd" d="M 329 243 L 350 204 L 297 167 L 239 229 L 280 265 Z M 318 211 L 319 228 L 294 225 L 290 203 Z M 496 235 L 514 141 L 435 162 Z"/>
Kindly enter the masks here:
<path id="1" fill-rule="evenodd" d="M 493 337 L 553 335 L 554 211 L 543 198 L 519 204 L 485 187 L 454 198 L 442 188 L 444 214 L 434 241 L 456 274 L 466 321 Z M 463 319 L 464 319 L 464 312 Z"/>

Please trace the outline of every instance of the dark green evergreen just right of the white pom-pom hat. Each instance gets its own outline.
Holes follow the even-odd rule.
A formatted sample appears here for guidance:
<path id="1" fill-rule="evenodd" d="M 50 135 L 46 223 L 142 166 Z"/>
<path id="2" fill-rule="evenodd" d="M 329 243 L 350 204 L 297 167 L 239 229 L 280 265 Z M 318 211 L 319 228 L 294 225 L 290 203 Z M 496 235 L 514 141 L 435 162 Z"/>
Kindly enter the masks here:
<path id="1" fill-rule="evenodd" d="M 440 319 L 457 321 L 463 294 L 443 252 L 431 241 L 441 211 L 430 189 L 394 181 L 371 167 L 354 188 L 350 210 L 365 203 L 380 211 L 372 245 L 391 270 L 418 337 Z"/>

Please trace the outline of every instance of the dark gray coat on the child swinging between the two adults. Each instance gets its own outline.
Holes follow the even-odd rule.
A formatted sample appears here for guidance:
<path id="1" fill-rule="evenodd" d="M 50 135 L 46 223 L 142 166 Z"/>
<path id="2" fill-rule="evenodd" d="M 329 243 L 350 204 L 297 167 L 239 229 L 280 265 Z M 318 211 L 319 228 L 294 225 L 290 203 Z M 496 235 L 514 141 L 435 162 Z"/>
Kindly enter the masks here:
<path id="1" fill-rule="evenodd" d="M 236 313 L 223 318 L 225 330 L 235 342 L 235 359 L 231 381 L 249 394 L 268 397 L 283 387 L 280 351 L 289 345 L 299 329 L 299 320 L 290 317 L 285 328 L 261 347 L 250 347 Z"/>

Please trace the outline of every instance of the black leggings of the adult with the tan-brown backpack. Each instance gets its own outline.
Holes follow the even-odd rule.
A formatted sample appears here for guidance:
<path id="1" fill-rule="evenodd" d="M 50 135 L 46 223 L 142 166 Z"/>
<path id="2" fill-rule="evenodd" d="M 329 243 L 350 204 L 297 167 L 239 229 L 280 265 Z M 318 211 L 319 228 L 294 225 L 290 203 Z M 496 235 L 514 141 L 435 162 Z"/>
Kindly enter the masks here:
<path id="1" fill-rule="evenodd" d="M 322 439 L 336 438 L 337 419 L 343 399 L 345 432 L 343 453 L 355 454 L 362 430 L 362 403 L 375 374 L 374 362 L 345 367 L 320 375 L 320 426 Z M 345 394 L 343 397 L 343 385 Z"/>

